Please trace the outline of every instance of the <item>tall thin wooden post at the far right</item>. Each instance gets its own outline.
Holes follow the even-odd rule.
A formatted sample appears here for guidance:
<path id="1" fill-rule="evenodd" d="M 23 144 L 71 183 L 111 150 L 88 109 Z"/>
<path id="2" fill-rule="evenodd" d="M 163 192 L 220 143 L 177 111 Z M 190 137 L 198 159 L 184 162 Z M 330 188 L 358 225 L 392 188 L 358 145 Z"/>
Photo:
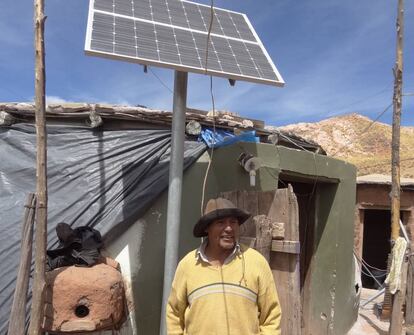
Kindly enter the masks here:
<path id="1" fill-rule="evenodd" d="M 403 33 L 404 33 L 404 1 L 398 0 L 397 15 L 397 60 L 394 67 L 394 111 L 392 118 L 392 189 L 391 189 L 391 240 L 400 236 L 400 123 L 403 82 Z M 402 276 L 407 275 L 407 266 L 403 267 Z M 393 307 L 389 334 L 400 335 L 402 327 L 401 308 L 405 292 L 397 292 L 393 296 Z"/>

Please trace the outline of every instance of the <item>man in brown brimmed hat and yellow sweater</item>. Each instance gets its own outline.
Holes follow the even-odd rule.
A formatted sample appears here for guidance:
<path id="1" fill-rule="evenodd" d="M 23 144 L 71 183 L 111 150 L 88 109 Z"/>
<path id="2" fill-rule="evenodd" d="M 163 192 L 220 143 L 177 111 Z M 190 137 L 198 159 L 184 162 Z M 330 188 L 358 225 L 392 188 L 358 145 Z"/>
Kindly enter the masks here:
<path id="1" fill-rule="evenodd" d="M 265 258 L 238 243 L 250 215 L 223 198 L 194 226 L 206 237 L 178 264 L 167 304 L 168 335 L 280 335 L 281 310 Z"/>

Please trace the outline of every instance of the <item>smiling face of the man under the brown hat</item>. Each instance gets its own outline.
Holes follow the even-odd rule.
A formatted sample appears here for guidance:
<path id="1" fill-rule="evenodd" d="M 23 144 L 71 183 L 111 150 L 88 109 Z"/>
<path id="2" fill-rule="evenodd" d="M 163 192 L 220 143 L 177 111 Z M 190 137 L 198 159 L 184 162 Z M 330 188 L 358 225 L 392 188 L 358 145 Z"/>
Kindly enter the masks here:
<path id="1" fill-rule="evenodd" d="M 239 239 L 239 220 L 233 216 L 214 220 L 206 232 L 209 244 L 223 250 L 231 250 Z"/>

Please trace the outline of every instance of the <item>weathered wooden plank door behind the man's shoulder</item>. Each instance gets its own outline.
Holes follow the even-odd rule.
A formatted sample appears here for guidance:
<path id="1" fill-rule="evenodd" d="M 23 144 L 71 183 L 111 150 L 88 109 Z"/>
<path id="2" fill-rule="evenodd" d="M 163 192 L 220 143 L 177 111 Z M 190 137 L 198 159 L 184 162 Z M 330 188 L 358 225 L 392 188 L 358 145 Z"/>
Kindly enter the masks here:
<path id="1" fill-rule="evenodd" d="M 225 192 L 223 197 L 252 214 L 241 242 L 268 259 L 282 307 L 282 335 L 301 335 L 299 212 L 292 187 L 268 192 Z M 284 227 L 284 238 L 280 231 Z M 272 233 L 278 239 L 272 239 Z"/>

